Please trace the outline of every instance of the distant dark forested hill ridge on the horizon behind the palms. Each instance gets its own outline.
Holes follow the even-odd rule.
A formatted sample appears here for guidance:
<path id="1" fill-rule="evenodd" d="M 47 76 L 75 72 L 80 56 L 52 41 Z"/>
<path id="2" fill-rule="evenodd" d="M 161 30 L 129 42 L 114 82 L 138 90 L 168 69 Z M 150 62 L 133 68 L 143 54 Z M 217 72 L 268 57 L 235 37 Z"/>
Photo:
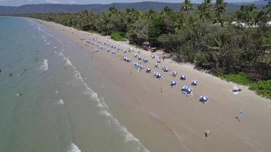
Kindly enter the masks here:
<path id="1" fill-rule="evenodd" d="M 26 4 L 22 6 L 0 6 L 0 14 L 9 13 L 45 13 L 45 12 L 79 12 L 87 9 L 92 12 L 107 11 L 109 7 L 116 7 L 120 10 L 126 8 L 135 8 L 141 11 L 147 11 L 153 8 L 156 11 L 161 11 L 165 6 L 169 6 L 174 11 L 179 11 L 179 5 L 181 3 L 169 3 L 169 2 L 127 2 L 127 3 L 111 3 L 111 4 Z M 198 4 L 193 4 L 197 6 Z M 241 3 L 228 3 L 226 8 L 228 12 L 235 11 L 239 8 Z M 261 9 L 263 5 L 257 5 L 257 9 Z"/>

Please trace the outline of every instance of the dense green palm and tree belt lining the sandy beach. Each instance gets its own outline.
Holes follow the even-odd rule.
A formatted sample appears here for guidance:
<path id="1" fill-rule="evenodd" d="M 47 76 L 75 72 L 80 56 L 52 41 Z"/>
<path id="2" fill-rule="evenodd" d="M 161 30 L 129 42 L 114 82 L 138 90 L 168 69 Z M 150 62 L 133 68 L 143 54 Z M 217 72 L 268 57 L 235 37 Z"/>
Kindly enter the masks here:
<path id="1" fill-rule="evenodd" d="M 195 63 L 219 77 L 249 85 L 270 98 L 271 29 L 270 4 L 256 11 L 254 4 L 226 12 L 224 0 L 204 0 L 197 7 L 185 0 L 180 11 L 164 7 L 161 12 L 134 8 L 107 12 L 21 14 L 54 21 L 81 30 L 94 30 L 113 39 L 142 45 L 149 41 L 164 48 L 177 61 Z"/>

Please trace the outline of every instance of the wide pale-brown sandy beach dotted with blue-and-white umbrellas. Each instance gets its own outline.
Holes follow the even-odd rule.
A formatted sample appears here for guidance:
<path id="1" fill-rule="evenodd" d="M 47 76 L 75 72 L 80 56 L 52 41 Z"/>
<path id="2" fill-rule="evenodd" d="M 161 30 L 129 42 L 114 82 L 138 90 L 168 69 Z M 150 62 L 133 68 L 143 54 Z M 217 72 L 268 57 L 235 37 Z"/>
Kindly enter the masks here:
<path id="1" fill-rule="evenodd" d="M 162 60 L 160 68 L 155 69 L 153 66 L 162 52 L 155 52 L 156 59 L 151 59 L 151 52 L 134 49 L 149 59 L 148 63 L 143 63 L 144 68 L 152 68 L 151 73 L 145 70 L 138 72 L 132 67 L 133 61 L 139 62 L 133 57 L 133 52 L 123 53 L 115 49 L 117 54 L 131 58 L 131 62 L 125 62 L 121 56 L 112 55 L 106 49 L 93 53 L 96 47 L 80 38 L 92 41 L 92 37 L 97 37 L 97 41 L 126 50 L 132 45 L 54 22 L 35 20 L 60 32 L 78 47 L 82 46 L 82 51 L 88 51 L 89 58 L 95 58 L 95 71 L 111 84 L 103 84 L 104 87 L 94 91 L 103 92 L 105 102 L 106 98 L 115 100 L 106 102 L 114 117 L 150 151 L 271 151 L 270 99 L 256 95 L 246 86 L 221 80 L 195 70 L 193 65 L 176 63 L 171 59 Z M 162 65 L 177 71 L 178 75 L 173 77 L 170 72 L 164 72 Z M 81 70 L 87 72 L 89 69 Z M 164 79 L 153 78 L 154 71 L 161 72 Z M 181 74 L 187 75 L 187 80 L 180 80 Z M 191 85 L 193 79 L 199 81 L 198 85 Z M 177 81 L 176 88 L 170 86 L 172 80 Z M 193 96 L 184 95 L 182 85 L 191 86 Z M 161 92 L 161 86 L 164 92 Z M 233 94 L 233 86 L 240 87 L 242 91 Z M 209 102 L 200 102 L 201 95 L 208 96 Z M 236 116 L 241 108 L 244 115 L 238 121 Z M 207 129 L 210 131 L 208 138 L 204 135 Z M 77 135 L 74 140 L 81 150 L 91 151 L 88 141 L 83 143 L 79 138 Z"/>

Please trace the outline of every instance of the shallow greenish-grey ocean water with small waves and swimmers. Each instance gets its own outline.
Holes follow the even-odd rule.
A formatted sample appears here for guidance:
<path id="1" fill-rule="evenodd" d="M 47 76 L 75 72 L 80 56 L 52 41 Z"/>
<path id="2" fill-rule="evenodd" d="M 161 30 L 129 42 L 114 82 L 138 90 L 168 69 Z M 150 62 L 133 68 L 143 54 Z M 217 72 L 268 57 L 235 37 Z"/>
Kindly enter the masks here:
<path id="1" fill-rule="evenodd" d="M 32 19 L 0 16 L 0 151 L 148 151 L 85 81 L 95 76 L 79 51 Z"/>

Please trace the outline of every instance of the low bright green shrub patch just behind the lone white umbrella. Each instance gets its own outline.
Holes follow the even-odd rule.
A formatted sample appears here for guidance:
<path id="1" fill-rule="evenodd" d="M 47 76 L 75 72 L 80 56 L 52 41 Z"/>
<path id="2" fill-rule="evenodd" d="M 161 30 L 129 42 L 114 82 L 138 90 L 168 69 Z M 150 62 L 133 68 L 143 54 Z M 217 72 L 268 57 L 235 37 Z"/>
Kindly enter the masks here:
<path id="1" fill-rule="evenodd" d="M 232 81 L 234 83 L 242 84 L 242 85 L 249 85 L 250 80 L 248 79 L 247 75 L 243 72 L 240 72 L 238 74 L 230 73 L 230 74 L 222 74 L 217 73 L 217 76 L 221 79 L 225 79 L 227 81 Z"/>

